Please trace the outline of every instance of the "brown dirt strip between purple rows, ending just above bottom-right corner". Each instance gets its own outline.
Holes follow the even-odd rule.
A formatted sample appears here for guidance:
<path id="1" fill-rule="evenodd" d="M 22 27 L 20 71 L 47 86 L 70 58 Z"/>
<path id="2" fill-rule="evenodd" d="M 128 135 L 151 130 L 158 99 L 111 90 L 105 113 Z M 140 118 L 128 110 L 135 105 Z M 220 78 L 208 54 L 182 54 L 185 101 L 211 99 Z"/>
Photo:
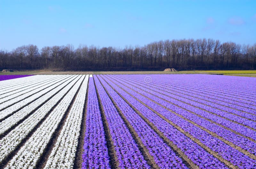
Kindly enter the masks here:
<path id="1" fill-rule="evenodd" d="M 108 80 L 109 80 L 109 79 L 108 79 Z M 111 81 L 111 80 L 110 80 L 110 81 Z M 113 81 L 112 81 L 112 82 L 113 82 Z M 116 84 L 115 82 L 113 82 L 113 83 Z M 122 83 L 120 83 L 120 84 L 122 84 Z M 116 84 L 116 85 L 119 87 L 118 84 Z M 124 84 L 122 84 L 122 85 L 124 85 Z M 124 85 L 124 86 L 125 86 L 125 85 Z M 127 86 L 126 86 L 126 87 L 127 87 Z M 119 87 L 119 88 L 120 88 L 120 87 Z M 127 88 L 129 88 L 129 87 L 127 87 Z M 132 89 L 132 90 L 133 90 L 133 89 Z M 135 90 L 133 90 L 133 91 L 136 92 Z M 128 93 L 128 92 L 126 92 L 126 93 Z M 136 93 L 138 93 L 138 92 L 136 92 Z M 129 94 L 129 93 L 128 93 L 128 94 Z M 140 93 L 138 93 L 138 94 L 140 94 Z M 129 95 L 131 95 L 131 94 L 129 94 Z M 142 95 L 142 94 L 140 94 L 140 95 Z M 132 96 L 132 95 L 131 95 L 131 96 Z M 189 123 L 192 123 L 192 124 L 195 125 L 196 127 L 199 127 L 200 129 L 206 131 L 207 133 L 211 134 L 213 137 L 216 137 L 216 138 L 220 139 L 220 140 L 221 140 L 222 142 L 224 142 L 225 144 L 228 144 L 229 146 L 235 148 L 236 150 L 238 150 L 238 151 L 244 153 L 244 154 L 247 155 L 248 157 L 250 157 L 250 158 L 256 160 L 256 156 L 255 156 L 254 154 L 252 154 L 252 153 L 250 153 L 250 152 L 248 152 L 248 151 L 242 149 L 242 148 L 239 147 L 239 146 L 236 146 L 235 144 L 231 143 L 230 141 L 224 139 L 223 137 L 218 136 L 216 133 L 213 133 L 212 131 L 210 131 L 210 130 L 208 130 L 208 129 L 206 129 L 206 128 L 204 128 L 204 127 L 202 127 L 202 126 L 196 124 L 195 122 L 193 122 L 193 121 L 187 119 L 186 117 L 181 116 L 180 114 L 174 112 L 173 110 L 166 108 L 165 106 L 163 106 L 163 105 L 161 105 L 161 104 L 155 102 L 154 100 L 148 98 L 147 96 L 145 96 L 145 95 L 142 95 L 142 96 L 144 96 L 144 97 L 147 98 L 148 100 L 150 100 L 150 101 L 156 103 L 157 105 L 163 107 L 164 109 L 170 111 L 171 113 L 173 113 L 173 114 L 179 116 L 180 118 L 182 118 L 182 119 L 188 121 Z M 134 96 L 132 96 L 132 97 L 135 98 Z M 135 99 L 138 100 L 137 98 L 135 98 Z M 139 100 L 138 100 L 138 101 L 139 101 Z M 144 104 L 144 103 L 143 103 L 143 104 Z M 144 104 L 144 105 L 145 105 L 145 104 Z M 147 107 L 148 107 L 148 106 L 147 106 Z M 152 110 L 152 111 L 153 111 L 153 110 Z M 154 112 L 155 112 L 155 111 L 154 111 Z M 194 113 L 193 113 L 193 114 L 194 114 Z M 162 116 L 162 115 L 161 115 L 161 116 Z M 167 119 L 167 120 L 168 120 L 168 119 Z M 169 123 L 169 122 L 168 122 L 168 123 Z"/>

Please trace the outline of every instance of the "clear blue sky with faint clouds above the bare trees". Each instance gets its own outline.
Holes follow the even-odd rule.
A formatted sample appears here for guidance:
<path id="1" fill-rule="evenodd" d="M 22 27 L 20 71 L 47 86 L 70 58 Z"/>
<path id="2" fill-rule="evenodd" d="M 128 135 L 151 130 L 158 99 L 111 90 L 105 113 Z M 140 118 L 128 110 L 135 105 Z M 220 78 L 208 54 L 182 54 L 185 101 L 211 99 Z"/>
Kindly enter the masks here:
<path id="1" fill-rule="evenodd" d="M 144 46 L 164 39 L 256 43 L 255 0 L 0 0 L 0 49 Z"/>

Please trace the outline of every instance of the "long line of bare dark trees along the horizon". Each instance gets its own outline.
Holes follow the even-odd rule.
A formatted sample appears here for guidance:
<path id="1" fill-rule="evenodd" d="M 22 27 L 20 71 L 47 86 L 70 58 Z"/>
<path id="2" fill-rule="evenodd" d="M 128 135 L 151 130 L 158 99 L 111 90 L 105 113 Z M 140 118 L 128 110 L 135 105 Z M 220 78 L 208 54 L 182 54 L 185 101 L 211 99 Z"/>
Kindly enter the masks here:
<path id="1" fill-rule="evenodd" d="M 252 46 L 213 39 L 165 40 L 139 47 L 19 46 L 0 51 L 0 69 L 52 70 L 255 69 Z"/>

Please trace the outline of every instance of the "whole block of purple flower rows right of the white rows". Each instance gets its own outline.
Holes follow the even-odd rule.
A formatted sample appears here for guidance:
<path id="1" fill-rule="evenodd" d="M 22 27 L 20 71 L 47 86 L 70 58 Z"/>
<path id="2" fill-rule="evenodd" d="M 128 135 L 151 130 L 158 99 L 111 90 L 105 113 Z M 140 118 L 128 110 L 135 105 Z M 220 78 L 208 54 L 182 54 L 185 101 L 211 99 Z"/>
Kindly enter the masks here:
<path id="1" fill-rule="evenodd" d="M 89 79 L 83 168 L 256 167 L 254 80 L 150 76 Z"/>

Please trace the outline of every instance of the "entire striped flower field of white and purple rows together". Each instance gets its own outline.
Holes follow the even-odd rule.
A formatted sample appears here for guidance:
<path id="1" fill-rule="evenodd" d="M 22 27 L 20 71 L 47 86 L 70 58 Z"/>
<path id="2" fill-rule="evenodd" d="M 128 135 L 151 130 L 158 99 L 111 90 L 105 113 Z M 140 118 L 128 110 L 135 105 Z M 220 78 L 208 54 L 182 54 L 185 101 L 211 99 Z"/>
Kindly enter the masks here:
<path id="1" fill-rule="evenodd" d="M 256 168 L 256 78 L 0 81 L 0 168 Z"/>

